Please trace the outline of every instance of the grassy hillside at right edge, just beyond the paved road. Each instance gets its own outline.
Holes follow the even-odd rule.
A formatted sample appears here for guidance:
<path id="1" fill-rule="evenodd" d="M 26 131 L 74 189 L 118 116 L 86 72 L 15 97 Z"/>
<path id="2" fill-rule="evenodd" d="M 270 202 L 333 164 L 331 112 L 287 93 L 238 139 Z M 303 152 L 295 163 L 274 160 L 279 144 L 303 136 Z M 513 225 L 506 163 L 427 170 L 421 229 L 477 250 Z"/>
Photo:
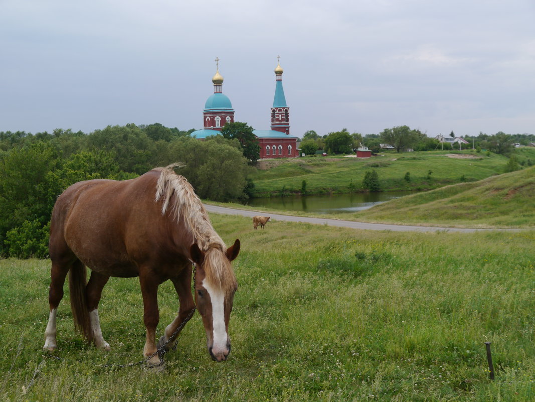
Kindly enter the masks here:
<path id="1" fill-rule="evenodd" d="M 351 218 L 381 223 L 533 227 L 534 194 L 535 166 L 532 166 L 402 197 L 353 214 Z"/>

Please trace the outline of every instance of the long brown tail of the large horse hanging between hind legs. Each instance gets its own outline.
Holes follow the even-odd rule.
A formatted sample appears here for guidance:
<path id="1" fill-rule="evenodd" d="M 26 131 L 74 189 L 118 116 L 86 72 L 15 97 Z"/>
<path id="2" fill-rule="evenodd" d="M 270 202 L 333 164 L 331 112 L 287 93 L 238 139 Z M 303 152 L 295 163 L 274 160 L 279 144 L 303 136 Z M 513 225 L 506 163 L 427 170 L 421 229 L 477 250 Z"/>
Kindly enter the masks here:
<path id="1" fill-rule="evenodd" d="M 87 308 L 86 284 L 86 267 L 80 260 L 77 260 L 72 264 L 68 272 L 72 317 L 74 319 L 74 328 L 80 331 L 88 342 L 91 342 L 93 340 L 93 331 L 91 331 Z"/>

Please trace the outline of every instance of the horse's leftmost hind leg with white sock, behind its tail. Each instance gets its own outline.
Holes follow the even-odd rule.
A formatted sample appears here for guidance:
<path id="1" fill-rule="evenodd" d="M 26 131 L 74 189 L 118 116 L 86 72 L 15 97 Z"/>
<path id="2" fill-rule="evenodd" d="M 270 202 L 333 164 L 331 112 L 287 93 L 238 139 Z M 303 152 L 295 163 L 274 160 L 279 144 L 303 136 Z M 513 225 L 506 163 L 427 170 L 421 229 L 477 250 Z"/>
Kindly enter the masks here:
<path id="1" fill-rule="evenodd" d="M 50 270 L 50 289 L 48 292 L 48 303 L 50 314 L 48 317 L 47 329 L 44 331 L 43 349 L 53 351 L 57 348 L 56 344 L 56 314 L 59 302 L 63 298 L 63 284 L 68 270 L 71 268 L 70 263 L 52 261 Z"/>

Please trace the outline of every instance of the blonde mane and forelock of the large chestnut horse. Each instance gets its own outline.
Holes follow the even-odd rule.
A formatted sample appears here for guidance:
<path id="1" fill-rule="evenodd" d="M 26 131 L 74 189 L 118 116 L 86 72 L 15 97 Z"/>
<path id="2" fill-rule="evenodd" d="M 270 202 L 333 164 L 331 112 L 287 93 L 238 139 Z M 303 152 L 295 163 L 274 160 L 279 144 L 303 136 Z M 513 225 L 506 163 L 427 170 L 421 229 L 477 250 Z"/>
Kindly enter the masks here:
<path id="1" fill-rule="evenodd" d="M 184 221 L 186 229 L 192 233 L 194 241 L 205 253 L 205 280 L 216 289 L 225 290 L 225 293 L 234 291 L 236 277 L 225 254 L 225 242 L 213 229 L 210 217 L 192 185 L 173 170 L 179 166 L 183 165 L 173 163 L 165 168 L 154 169 L 160 172 L 155 199 L 163 201 L 162 215 L 170 210 L 173 219 L 177 223 Z"/>

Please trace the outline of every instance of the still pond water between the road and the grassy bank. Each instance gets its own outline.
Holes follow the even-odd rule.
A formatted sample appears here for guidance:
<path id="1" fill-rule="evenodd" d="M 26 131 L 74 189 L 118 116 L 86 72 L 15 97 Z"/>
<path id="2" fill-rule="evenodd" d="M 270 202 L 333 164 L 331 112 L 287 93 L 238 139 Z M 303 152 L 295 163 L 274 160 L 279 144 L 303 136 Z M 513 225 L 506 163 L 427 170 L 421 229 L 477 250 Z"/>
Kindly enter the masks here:
<path id="1" fill-rule="evenodd" d="M 368 209 L 394 198 L 413 194 L 411 191 L 387 191 L 379 193 L 350 193 L 253 198 L 244 202 L 250 207 L 273 210 L 304 211 L 317 214 L 351 213 Z"/>

